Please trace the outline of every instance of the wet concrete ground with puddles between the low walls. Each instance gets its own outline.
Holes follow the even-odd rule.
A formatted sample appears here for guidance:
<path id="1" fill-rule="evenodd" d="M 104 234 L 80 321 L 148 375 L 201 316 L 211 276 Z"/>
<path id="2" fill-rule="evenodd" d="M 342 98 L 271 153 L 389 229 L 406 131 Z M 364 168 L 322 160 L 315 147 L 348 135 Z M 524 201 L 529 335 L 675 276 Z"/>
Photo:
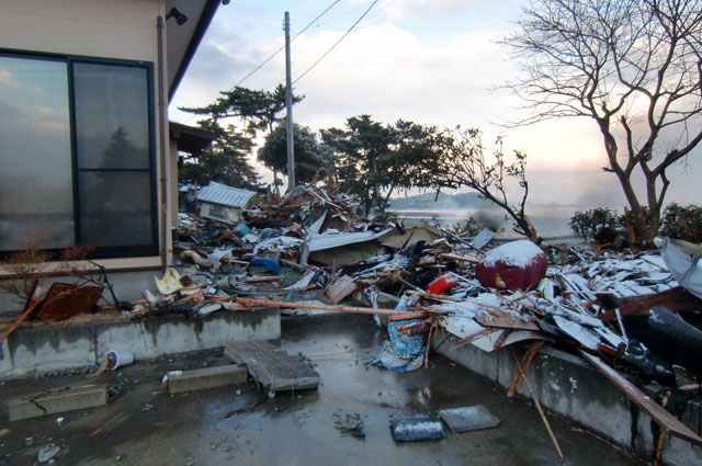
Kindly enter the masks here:
<path id="1" fill-rule="evenodd" d="M 250 380 L 171 396 L 159 385 L 171 370 L 229 364 L 222 351 L 136 362 L 97 379 L 60 375 L 5 382 L 0 411 L 0 465 L 38 464 L 55 444 L 57 465 L 558 465 L 536 410 L 509 400 L 449 360 L 398 374 L 369 366 L 385 336 L 367 316 L 298 318 L 283 326 L 282 348 L 302 353 L 320 373 L 318 390 L 267 397 Z M 106 407 L 8 421 L 7 401 L 67 385 L 115 388 Z M 118 393 L 116 393 L 118 391 Z M 441 408 L 483 405 L 501 420 L 491 430 L 441 441 L 398 444 L 393 419 L 434 416 Z M 366 437 L 336 429 L 347 414 Z M 63 419 L 61 419 L 63 418 Z M 60 421 L 59 421 L 60 419 Z M 570 424 L 550 418 L 569 465 L 644 463 Z M 47 464 L 47 463 L 43 463 Z"/>

